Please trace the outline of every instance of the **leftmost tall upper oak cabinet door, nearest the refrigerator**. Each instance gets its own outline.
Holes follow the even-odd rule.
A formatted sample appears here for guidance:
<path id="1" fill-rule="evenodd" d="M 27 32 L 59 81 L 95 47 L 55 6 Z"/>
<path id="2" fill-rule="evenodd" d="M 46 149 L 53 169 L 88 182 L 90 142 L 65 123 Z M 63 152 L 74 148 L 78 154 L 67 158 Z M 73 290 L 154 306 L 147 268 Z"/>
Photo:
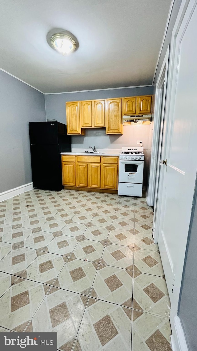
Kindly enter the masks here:
<path id="1" fill-rule="evenodd" d="M 66 103 L 67 134 L 81 134 L 80 102 Z"/>

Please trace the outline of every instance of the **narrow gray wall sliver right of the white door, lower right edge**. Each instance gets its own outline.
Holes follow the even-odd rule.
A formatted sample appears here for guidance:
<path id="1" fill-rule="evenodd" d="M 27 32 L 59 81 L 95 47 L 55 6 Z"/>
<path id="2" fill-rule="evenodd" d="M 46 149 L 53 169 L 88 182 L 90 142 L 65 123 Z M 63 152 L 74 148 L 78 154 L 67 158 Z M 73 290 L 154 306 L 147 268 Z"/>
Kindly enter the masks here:
<path id="1" fill-rule="evenodd" d="M 197 183 L 196 183 L 197 187 Z M 189 228 L 188 244 L 179 299 L 178 316 L 185 332 L 188 350 L 197 350 L 197 188 L 193 199 L 193 208 Z"/>

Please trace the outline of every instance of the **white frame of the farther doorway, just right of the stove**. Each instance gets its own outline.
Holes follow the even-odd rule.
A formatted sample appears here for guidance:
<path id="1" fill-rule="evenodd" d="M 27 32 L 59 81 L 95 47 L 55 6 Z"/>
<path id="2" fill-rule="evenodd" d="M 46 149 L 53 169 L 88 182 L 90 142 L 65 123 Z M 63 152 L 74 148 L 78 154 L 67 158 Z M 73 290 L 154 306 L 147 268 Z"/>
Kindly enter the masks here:
<path id="1" fill-rule="evenodd" d="M 169 51 L 170 51 L 170 47 L 168 45 L 168 48 L 162 63 L 162 67 L 159 72 L 157 83 L 156 83 L 154 127 L 153 127 L 153 134 L 152 134 L 152 152 L 151 152 L 151 161 L 150 161 L 149 186 L 148 186 L 148 193 L 147 193 L 147 199 L 146 199 L 148 206 L 156 205 L 155 194 L 157 192 L 158 178 L 159 178 L 158 177 L 159 167 L 157 167 L 158 166 L 157 160 L 158 160 L 158 154 L 161 153 L 161 143 L 159 145 L 159 138 L 161 134 L 161 127 L 163 128 L 163 120 L 164 120 L 164 114 L 165 114 Z M 164 82 L 164 90 L 162 94 L 163 82 Z M 163 106 L 162 106 L 162 101 L 164 102 Z M 153 231 L 154 231 L 154 228 L 153 228 Z"/>

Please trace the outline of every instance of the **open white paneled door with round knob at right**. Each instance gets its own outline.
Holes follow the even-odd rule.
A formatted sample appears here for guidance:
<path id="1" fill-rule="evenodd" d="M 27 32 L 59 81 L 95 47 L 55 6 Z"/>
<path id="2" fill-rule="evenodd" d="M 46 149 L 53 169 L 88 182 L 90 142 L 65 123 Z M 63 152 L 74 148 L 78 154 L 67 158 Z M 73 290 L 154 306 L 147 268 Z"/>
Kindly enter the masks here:
<path id="1" fill-rule="evenodd" d="M 197 171 L 197 7 L 191 0 L 171 50 L 168 139 L 163 159 L 158 245 L 175 316 Z M 177 26 L 178 28 L 178 26 Z M 174 39 L 174 38 L 172 38 Z M 173 40 L 172 40 L 173 41 Z M 173 51 L 173 53 L 172 53 Z M 158 213 L 158 212 L 157 212 Z M 157 222 L 158 223 L 158 222 Z"/>

